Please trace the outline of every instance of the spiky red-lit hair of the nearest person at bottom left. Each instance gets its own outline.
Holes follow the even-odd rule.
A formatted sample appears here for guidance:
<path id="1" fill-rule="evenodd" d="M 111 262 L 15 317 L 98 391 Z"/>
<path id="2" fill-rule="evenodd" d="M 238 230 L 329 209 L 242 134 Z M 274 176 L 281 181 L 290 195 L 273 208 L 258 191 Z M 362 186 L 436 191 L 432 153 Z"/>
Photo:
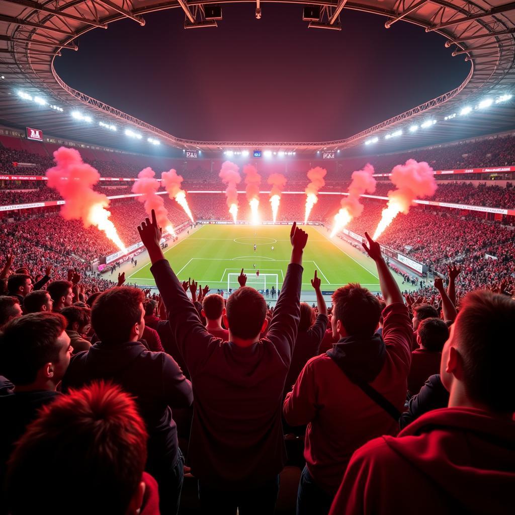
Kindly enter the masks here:
<path id="1" fill-rule="evenodd" d="M 53 496 L 55 513 L 125 513 L 142 480 L 147 432 L 121 388 L 93 383 L 45 405 L 9 459 L 7 499 L 13 515 L 38 513 L 58 478 L 88 484 Z"/>

